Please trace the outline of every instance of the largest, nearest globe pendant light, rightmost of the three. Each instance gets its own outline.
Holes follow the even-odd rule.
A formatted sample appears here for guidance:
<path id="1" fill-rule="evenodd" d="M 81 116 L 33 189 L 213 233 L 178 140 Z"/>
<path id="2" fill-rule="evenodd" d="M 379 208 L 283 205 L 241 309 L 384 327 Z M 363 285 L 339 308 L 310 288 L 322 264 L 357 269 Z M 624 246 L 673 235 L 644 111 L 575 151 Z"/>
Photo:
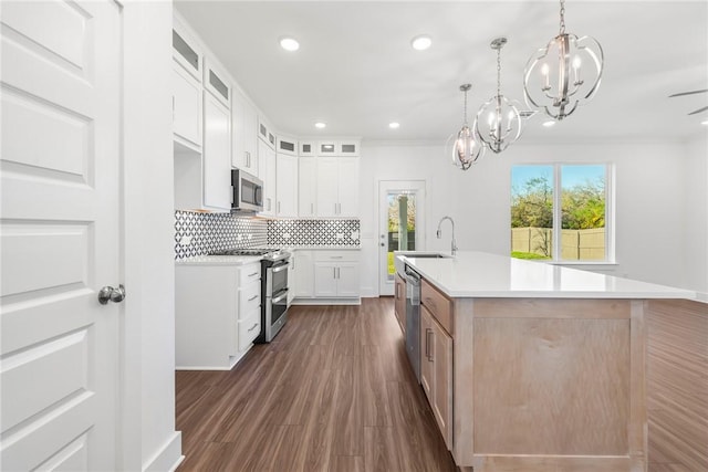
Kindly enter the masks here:
<path id="1" fill-rule="evenodd" d="M 531 56 L 523 72 L 527 103 L 558 120 L 570 116 L 597 92 L 603 62 L 597 41 L 565 32 L 565 1 L 561 0 L 558 36 Z"/>

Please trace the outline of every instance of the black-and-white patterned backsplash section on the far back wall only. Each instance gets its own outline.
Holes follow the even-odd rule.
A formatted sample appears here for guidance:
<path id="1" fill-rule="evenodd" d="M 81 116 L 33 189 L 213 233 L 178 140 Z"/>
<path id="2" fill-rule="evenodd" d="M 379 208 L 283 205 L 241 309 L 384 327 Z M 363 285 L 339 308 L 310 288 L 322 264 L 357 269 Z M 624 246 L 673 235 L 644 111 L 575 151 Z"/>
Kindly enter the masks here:
<path id="1" fill-rule="evenodd" d="M 273 248 L 358 248 L 360 220 L 269 220 Z"/>

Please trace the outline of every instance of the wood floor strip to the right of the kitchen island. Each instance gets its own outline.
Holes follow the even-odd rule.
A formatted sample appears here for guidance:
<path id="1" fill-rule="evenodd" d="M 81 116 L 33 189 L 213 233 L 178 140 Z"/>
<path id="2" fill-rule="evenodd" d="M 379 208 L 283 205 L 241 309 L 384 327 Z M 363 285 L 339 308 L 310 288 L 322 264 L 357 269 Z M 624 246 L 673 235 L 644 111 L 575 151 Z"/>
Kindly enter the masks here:
<path id="1" fill-rule="evenodd" d="M 708 303 L 652 300 L 647 329 L 649 471 L 708 471 Z"/>

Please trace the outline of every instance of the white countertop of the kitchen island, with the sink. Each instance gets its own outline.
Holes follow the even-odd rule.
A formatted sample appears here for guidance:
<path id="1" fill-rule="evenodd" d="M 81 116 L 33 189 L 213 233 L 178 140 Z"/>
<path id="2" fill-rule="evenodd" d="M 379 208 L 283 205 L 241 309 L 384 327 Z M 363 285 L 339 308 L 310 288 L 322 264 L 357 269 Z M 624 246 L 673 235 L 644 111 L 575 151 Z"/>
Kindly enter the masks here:
<path id="1" fill-rule="evenodd" d="M 450 297 L 690 298 L 696 292 L 485 252 L 402 256 Z"/>

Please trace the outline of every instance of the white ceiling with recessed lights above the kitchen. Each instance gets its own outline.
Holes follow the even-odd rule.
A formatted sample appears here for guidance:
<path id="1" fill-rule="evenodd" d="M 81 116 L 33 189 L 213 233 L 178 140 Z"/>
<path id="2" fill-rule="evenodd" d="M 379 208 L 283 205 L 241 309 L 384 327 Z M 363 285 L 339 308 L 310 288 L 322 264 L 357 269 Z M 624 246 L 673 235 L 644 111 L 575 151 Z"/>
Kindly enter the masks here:
<path id="1" fill-rule="evenodd" d="M 492 39 L 502 50 L 502 93 L 523 101 L 523 67 L 559 32 L 556 1 L 184 1 L 177 11 L 281 132 L 371 140 L 445 140 L 496 92 Z M 543 128 L 539 114 L 521 139 L 543 143 L 708 136 L 708 0 L 573 1 L 566 32 L 592 35 L 605 54 L 597 95 Z M 410 48 L 417 34 L 433 48 Z M 280 49 L 295 36 L 298 52 Z M 324 130 L 313 124 L 323 120 Z M 389 129 L 389 122 L 399 129 Z"/>

